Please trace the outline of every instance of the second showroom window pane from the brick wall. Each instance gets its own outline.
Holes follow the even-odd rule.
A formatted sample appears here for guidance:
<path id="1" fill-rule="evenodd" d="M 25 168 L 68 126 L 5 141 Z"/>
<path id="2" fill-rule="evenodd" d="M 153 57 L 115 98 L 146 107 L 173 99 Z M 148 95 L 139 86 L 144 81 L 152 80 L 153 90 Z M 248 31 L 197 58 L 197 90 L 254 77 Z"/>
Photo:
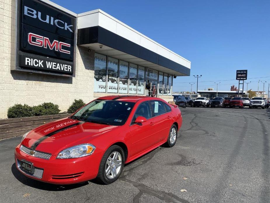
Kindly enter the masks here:
<path id="1" fill-rule="evenodd" d="M 108 57 L 107 92 L 117 93 L 118 89 L 118 59 Z"/>

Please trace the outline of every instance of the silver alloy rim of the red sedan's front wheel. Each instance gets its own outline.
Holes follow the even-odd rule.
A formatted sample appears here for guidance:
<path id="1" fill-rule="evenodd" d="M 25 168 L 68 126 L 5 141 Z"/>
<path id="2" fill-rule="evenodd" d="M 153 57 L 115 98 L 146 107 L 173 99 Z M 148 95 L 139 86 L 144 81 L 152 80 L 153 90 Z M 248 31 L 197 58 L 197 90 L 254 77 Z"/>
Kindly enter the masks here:
<path id="1" fill-rule="evenodd" d="M 119 152 L 112 152 L 107 159 L 105 166 L 105 174 L 107 178 L 113 179 L 115 178 L 121 169 L 122 166 L 122 156 Z"/>

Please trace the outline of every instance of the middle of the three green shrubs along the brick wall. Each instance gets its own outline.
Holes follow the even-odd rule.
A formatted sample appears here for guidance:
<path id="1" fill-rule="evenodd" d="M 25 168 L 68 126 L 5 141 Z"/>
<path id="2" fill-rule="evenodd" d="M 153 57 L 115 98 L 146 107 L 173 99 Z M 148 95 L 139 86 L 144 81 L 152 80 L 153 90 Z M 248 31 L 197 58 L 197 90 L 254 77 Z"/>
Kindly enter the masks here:
<path id="1" fill-rule="evenodd" d="M 59 106 L 52 102 L 45 102 L 37 106 L 33 106 L 34 116 L 54 115 L 60 112 Z"/>

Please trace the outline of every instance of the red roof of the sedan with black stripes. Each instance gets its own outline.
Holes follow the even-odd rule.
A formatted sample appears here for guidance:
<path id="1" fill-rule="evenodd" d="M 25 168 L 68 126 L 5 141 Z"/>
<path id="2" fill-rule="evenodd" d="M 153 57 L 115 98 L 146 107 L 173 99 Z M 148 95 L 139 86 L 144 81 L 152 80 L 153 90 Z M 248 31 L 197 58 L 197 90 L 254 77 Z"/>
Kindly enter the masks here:
<path id="1" fill-rule="evenodd" d="M 110 95 L 110 96 L 99 97 L 98 99 L 102 99 L 102 100 L 118 100 L 118 101 L 124 101 L 124 102 L 137 102 L 137 101 L 139 101 L 141 99 L 144 99 L 144 100 L 160 100 L 157 97 L 138 96 L 138 95 Z"/>

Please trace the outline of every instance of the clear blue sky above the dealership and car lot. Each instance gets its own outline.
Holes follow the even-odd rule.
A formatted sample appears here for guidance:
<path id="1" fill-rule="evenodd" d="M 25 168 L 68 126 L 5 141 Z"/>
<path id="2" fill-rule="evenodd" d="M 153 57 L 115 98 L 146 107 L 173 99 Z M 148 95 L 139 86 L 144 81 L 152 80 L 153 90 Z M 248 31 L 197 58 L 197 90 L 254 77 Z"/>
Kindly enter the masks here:
<path id="1" fill-rule="evenodd" d="M 75 13 L 100 8 L 191 61 L 191 76 L 173 80 L 173 91 L 238 86 L 236 70 L 248 70 L 248 89 L 270 83 L 270 1 L 52 0 Z M 74 4 L 74 2 L 76 2 Z M 208 82 L 209 81 L 209 82 Z M 244 85 L 244 90 L 246 90 Z M 259 91 L 263 84 L 259 83 Z"/>

